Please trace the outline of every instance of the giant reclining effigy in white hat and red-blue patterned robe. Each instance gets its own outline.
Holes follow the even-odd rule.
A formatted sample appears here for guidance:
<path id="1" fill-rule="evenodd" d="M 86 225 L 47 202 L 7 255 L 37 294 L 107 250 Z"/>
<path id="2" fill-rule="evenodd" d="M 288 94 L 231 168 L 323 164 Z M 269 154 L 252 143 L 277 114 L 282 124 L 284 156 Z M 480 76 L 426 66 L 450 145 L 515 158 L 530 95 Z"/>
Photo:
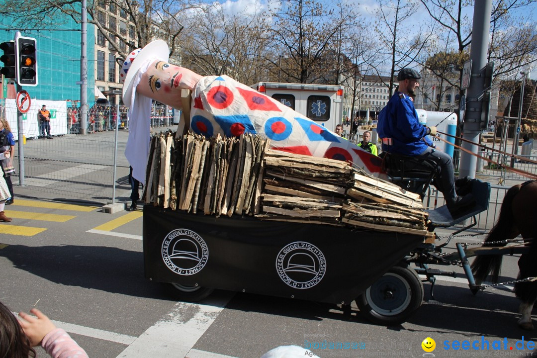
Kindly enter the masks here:
<path id="1" fill-rule="evenodd" d="M 133 167 L 133 177 L 140 182 L 146 176 L 153 99 L 183 110 L 185 132 L 190 129 L 208 137 L 261 135 L 270 138 L 273 149 L 345 160 L 381 175 L 378 157 L 279 101 L 228 76 L 204 77 L 168 60 L 168 45 L 156 40 L 134 50 L 122 62 L 122 96 L 129 107 L 125 156 Z"/>

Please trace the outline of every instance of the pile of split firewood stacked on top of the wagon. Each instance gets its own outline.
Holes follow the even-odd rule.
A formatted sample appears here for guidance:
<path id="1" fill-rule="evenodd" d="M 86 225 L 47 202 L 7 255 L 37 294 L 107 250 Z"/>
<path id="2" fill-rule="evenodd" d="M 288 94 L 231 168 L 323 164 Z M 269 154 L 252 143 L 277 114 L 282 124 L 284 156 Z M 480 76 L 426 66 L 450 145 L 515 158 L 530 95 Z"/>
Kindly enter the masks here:
<path id="1" fill-rule="evenodd" d="M 272 150 L 269 144 L 251 134 L 155 135 L 143 200 L 188 213 L 430 236 L 418 194 L 349 163 Z"/>

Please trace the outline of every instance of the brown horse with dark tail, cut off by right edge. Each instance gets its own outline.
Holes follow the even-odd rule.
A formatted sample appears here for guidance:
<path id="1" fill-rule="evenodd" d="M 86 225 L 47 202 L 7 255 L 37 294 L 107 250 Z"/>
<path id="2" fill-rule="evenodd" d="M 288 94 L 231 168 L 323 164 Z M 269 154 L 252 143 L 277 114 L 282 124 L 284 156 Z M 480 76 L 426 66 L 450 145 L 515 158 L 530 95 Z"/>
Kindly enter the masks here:
<path id="1" fill-rule="evenodd" d="M 529 249 L 518 260 L 519 279 L 537 276 L 537 243 L 534 240 L 537 238 L 536 213 L 537 181 L 526 181 L 511 187 L 505 194 L 498 221 L 483 244 L 483 246 L 505 246 L 506 243 L 493 242 L 514 239 L 521 235 Z M 497 282 L 501 265 L 502 255 L 478 255 L 471 265 L 476 283 L 483 282 L 489 273 L 492 281 Z M 537 281 L 515 283 L 514 294 L 522 301 L 519 307 L 521 314 L 518 320 L 519 327 L 533 330 L 532 309 L 537 299 Z"/>

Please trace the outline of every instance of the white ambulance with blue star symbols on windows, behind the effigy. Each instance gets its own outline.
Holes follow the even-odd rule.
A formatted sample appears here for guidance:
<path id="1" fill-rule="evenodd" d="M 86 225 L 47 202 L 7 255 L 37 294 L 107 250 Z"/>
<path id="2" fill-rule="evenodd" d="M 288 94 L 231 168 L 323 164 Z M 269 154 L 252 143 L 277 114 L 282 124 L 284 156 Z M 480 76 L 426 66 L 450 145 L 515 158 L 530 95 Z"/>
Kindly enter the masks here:
<path id="1" fill-rule="evenodd" d="M 343 86 L 259 82 L 250 87 L 293 108 L 331 131 L 342 122 Z"/>

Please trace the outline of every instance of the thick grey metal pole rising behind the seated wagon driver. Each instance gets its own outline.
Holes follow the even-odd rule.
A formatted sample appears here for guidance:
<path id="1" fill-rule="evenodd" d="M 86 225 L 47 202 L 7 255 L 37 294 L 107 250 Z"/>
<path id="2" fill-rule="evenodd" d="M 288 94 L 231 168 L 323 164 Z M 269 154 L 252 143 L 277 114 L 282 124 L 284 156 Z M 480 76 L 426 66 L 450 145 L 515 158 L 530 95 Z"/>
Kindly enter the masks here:
<path id="1" fill-rule="evenodd" d="M 487 49 L 489 44 L 490 14 L 492 10 L 492 0 L 481 0 L 474 2 L 474 24 L 472 26 L 472 39 L 470 49 L 470 59 L 472 69 L 470 86 L 468 87 L 466 99 L 466 116 L 464 122 L 464 136 L 470 142 L 477 142 L 481 133 L 481 112 L 483 109 L 483 89 L 485 84 L 485 67 L 487 65 Z M 462 143 L 462 147 L 477 154 L 476 144 Z M 477 157 L 465 151 L 461 153 L 461 165 L 459 176 L 475 178 Z"/>

